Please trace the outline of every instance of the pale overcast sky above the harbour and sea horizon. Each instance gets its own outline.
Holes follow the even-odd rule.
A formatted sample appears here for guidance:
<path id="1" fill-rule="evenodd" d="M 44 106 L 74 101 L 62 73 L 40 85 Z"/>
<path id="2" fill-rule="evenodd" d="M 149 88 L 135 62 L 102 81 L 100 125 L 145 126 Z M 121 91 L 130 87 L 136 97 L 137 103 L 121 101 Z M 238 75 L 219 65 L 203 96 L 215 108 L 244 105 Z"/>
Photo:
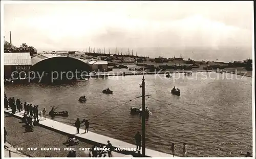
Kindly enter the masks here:
<path id="1" fill-rule="evenodd" d="M 20 2 L 19 2 L 20 3 Z M 253 2 L 5 4 L 5 39 L 61 50 L 250 47 Z"/>

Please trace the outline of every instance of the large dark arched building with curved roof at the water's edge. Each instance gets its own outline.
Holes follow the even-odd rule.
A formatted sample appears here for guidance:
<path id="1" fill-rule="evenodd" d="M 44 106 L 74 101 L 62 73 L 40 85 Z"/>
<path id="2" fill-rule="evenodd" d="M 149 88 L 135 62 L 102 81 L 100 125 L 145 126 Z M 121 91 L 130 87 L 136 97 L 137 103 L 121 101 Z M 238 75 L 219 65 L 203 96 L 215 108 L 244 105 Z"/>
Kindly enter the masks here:
<path id="1" fill-rule="evenodd" d="M 42 54 L 33 57 L 31 62 L 31 71 L 40 74 L 44 72 L 46 75 L 51 75 L 55 72 L 55 74 L 62 73 L 66 76 L 67 72 L 78 72 L 76 75 L 80 75 L 81 72 L 90 72 L 90 66 L 86 62 L 67 56 Z"/>

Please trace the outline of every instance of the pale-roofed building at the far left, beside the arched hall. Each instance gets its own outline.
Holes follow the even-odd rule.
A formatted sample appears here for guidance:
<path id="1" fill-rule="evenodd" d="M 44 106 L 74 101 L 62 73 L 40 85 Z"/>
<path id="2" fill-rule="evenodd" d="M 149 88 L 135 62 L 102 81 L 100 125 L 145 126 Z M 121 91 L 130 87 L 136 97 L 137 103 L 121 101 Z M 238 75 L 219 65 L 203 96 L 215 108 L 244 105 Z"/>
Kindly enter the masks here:
<path id="1" fill-rule="evenodd" d="M 22 71 L 27 73 L 30 71 L 31 65 L 30 53 L 4 53 L 5 78 L 11 78 L 14 71 L 16 74 Z"/>

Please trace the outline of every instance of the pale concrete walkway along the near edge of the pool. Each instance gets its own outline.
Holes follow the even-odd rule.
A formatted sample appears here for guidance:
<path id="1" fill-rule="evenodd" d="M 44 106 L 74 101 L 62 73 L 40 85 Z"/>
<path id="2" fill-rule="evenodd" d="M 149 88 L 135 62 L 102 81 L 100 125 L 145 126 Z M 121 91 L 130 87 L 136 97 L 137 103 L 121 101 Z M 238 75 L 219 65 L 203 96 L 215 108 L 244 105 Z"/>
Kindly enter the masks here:
<path id="1" fill-rule="evenodd" d="M 16 112 L 15 114 L 11 113 L 11 109 L 9 110 L 5 110 L 5 113 L 12 115 L 16 118 L 23 118 L 23 114 L 24 111 L 22 112 Z M 74 124 L 75 125 L 75 124 Z M 102 144 L 102 145 L 106 145 L 108 144 L 107 141 L 109 140 L 110 143 L 112 144 L 112 146 L 114 148 L 136 148 L 135 145 L 132 145 L 130 143 L 126 143 L 120 140 L 116 140 L 113 138 L 109 138 L 106 137 L 104 135 L 100 135 L 94 132 L 89 131 L 88 133 L 83 133 L 84 129 L 80 129 L 79 130 L 79 134 L 76 132 L 76 128 L 74 126 L 70 126 L 67 124 L 63 124 L 51 119 L 46 119 L 46 120 L 42 120 L 39 122 L 39 126 L 45 127 L 47 129 L 51 129 L 54 131 L 57 131 L 59 133 L 62 134 L 74 134 L 75 138 L 79 139 L 80 141 L 84 141 L 90 144 Z M 141 150 L 140 150 L 141 151 Z M 136 151 L 116 151 L 118 153 L 122 153 L 122 154 L 132 154 L 132 155 L 136 155 L 137 152 Z M 162 152 L 158 152 L 155 150 L 151 150 L 151 149 L 146 149 L 146 156 L 147 157 L 173 157 L 172 154 L 166 154 L 166 153 L 162 153 Z"/>

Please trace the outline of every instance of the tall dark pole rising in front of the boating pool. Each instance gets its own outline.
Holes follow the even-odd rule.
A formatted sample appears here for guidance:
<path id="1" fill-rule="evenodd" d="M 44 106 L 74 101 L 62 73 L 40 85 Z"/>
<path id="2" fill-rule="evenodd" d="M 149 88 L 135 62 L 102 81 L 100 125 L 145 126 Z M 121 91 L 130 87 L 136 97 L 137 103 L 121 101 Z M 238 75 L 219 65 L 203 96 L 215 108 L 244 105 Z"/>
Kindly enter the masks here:
<path id="1" fill-rule="evenodd" d="M 145 79 L 142 79 L 142 155 L 145 156 Z"/>

